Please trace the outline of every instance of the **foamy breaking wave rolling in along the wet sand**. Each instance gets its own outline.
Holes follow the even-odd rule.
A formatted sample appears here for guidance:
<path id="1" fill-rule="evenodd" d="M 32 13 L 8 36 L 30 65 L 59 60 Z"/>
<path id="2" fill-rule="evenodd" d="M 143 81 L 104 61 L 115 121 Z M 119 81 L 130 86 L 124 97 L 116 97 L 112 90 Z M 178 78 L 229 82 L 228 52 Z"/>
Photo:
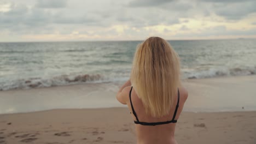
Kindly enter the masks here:
<path id="1" fill-rule="evenodd" d="M 250 68 L 230 68 L 230 69 L 209 69 L 209 70 L 185 70 L 183 69 L 183 79 L 204 79 L 221 76 L 240 76 L 256 74 L 256 67 Z M 129 79 L 130 71 L 119 70 L 110 74 L 80 74 L 80 75 L 60 75 L 50 78 L 32 77 L 29 79 L 19 79 L 0 83 L 0 91 L 10 89 L 30 89 L 38 87 L 54 87 L 63 85 L 75 85 L 81 83 L 102 83 L 102 82 L 123 82 Z"/>

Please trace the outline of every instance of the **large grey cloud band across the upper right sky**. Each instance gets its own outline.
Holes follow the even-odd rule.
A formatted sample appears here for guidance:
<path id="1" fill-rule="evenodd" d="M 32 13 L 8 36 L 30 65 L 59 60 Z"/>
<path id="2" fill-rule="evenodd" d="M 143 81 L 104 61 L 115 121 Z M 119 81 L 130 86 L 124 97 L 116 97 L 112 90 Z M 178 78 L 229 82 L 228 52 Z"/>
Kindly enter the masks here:
<path id="1" fill-rule="evenodd" d="M 176 13 L 178 17 L 194 17 L 202 14 L 211 16 L 216 14 L 228 20 L 240 20 L 249 14 L 256 13 L 255 0 L 194 0 L 194 1 L 168 1 L 168 0 L 136 0 L 131 1 L 129 7 L 155 7 Z M 150 10 L 149 10 L 150 11 Z M 150 13 L 152 13 L 150 11 Z"/>

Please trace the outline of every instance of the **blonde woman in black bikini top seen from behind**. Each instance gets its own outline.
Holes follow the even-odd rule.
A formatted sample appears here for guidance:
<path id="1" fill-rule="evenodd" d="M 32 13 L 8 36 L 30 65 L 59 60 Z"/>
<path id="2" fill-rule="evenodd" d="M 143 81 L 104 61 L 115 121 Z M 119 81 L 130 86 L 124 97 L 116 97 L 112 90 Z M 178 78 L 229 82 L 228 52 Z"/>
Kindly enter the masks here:
<path id="1" fill-rule="evenodd" d="M 137 143 L 177 143 L 175 126 L 188 98 L 179 78 L 179 57 L 167 41 L 150 37 L 138 45 L 131 79 L 117 94 L 131 111 Z"/>

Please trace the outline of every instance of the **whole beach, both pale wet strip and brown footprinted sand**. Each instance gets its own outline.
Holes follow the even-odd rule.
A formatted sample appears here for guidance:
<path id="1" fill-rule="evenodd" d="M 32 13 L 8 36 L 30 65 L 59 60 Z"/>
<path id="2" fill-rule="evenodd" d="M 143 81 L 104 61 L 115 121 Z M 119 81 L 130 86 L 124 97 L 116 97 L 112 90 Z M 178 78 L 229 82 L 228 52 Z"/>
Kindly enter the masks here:
<path id="1" fill-rule="evenodd" d="M 255 75 L 184 80 L 177 142 L 255 144 L 255 83 Z M 136 143 L 130 112 L 115 100 L 120 84 L 2 91 L 0 143 Z"/>

